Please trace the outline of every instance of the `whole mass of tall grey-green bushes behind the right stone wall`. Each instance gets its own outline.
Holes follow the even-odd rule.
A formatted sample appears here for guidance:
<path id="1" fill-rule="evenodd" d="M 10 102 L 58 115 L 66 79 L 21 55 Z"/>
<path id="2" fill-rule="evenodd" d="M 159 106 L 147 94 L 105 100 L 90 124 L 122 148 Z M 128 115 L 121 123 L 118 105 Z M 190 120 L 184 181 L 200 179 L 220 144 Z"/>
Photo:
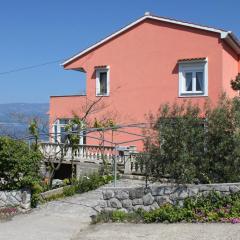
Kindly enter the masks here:
<path id="1" fill-rule="evenodd" d="M 139 158 L 148 176 L 180 183 L 240 181 L 239 98 L 223 95 L 217 106 L 206 104 L 204 111 L 191 102 L 164 105 L 150 120 Z"/>

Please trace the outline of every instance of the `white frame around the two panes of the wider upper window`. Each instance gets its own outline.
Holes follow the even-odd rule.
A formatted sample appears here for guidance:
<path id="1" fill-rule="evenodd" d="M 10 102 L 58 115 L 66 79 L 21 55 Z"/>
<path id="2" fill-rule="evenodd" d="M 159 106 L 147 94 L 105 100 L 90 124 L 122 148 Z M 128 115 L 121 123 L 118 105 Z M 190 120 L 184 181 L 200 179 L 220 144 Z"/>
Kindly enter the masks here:
<path id="1" fill-rule="evenodd" d="M 196 72 L 203 72 L 203 91 L 196 91 Z M 186 91 L 185 74 L 193 74 L 192 91 Z M 179 63 L 179 97 L 208 96 L 208 60 L 183 61 Z"/>

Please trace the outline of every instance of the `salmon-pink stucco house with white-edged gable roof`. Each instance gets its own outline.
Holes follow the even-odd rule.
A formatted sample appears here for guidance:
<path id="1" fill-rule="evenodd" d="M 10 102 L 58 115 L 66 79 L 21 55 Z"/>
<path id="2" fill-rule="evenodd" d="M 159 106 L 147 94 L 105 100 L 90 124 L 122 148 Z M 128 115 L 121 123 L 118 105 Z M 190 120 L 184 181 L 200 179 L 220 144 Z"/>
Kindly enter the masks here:
<path id="1" fill-rule="evenodd" d="M 145 122 L 145 114 L 166 102 L 202 105 L 210 98 L 214 104 L 223 91 L 232 97 L 240 42 L 230 31 L 146 13 L 62 66 L 86 74 L 86 95 L 51 96 L 53 134 L 73 113 L 81 114 L 87 99 L 103 96 L 107 106 L 93 118 L 113 114 L 118 123 L 130 124 Z M 88 138 L 86 143 L 93 144 Z"/>

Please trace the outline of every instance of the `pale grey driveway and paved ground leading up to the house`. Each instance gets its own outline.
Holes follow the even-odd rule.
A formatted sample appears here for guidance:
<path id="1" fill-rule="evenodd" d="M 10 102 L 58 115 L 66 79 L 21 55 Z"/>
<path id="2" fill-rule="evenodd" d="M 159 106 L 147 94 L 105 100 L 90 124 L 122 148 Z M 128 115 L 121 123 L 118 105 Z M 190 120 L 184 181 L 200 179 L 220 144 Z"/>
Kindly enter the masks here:
<path id="1" fill-rule="evenodd" d="M 109 184 L 110 185 L 110 184 Z M 142 185 L 121 180 L 118 186 Z M 0 222 L 0 240 L 240 240 L 240 224 L 102 224 L 89 225 L 101 190 L 53 201 L 31 213 Z"/>

